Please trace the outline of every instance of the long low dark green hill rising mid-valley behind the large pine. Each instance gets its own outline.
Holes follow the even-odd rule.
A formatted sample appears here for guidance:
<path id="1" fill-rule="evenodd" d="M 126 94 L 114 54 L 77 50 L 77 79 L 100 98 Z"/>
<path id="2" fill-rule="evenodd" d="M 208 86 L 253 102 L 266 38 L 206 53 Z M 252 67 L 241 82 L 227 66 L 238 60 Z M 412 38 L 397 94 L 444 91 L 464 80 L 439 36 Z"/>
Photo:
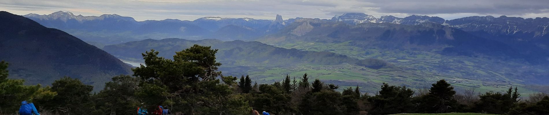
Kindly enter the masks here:
<path id="1" fill-rule="evenodd" d="M 194 44 L 212 46 L 212 49 L 219 49 L 217 60 L 227 63 L 248 64 L 273 64 L 273 65 L 295 65 L 298 63 L 312 63 L 322 65 L 354 64 L 357 59 L 344 55 L 337 55 L 332 52 L 300 51 L 297 49 L 284 49 L 262 44 L 256 41 L 220 41 L 220 40 L 184 40 L 184 39 L 147 39 L 132 41 L 126 44 L 105 46 L 103 50 L 110 54 L 130 60 L 142 60 L 141 53 L 154 49 L 159 51 L 159 56 L 172 58 L 177 51 L 187 49 Z M 139 61 L 141 62 L 141 61 Z"/>

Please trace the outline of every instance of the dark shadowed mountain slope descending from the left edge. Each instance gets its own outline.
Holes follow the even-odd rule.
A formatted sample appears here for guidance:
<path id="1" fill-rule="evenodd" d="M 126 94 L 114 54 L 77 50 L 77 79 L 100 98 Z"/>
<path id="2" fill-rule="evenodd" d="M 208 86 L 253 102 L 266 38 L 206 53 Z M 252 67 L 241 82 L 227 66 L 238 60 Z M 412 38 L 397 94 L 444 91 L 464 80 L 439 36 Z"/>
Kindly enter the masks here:
<path id="1" fill-rule="evenodd" d="M 0 11 L 0 60 L 9 63 L 9 78 L 28 84 L 51 84 L 63 76 L 79 78 L 102 89 L 131 66 L 59 29 Z"/>

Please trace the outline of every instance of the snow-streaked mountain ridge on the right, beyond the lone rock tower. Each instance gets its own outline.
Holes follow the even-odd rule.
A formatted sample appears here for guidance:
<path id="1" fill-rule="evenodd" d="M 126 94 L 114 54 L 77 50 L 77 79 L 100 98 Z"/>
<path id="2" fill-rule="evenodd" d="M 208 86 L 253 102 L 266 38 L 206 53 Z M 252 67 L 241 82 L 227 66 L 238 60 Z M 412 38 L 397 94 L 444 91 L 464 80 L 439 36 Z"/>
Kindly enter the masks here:
<path id="1" fill-rule="evenodd" d="M 523 19 L 522 17 L 507 16 L 470 16 L 461 19 L 444 20 L 436 16 L 411 15 L 404 18 L 395 16 L 381 16 L 377 19 L 374 16 L 363 13 L 348 13 L 341 16 L 334 16 L 332 21 L 341 21 L 349 25 L 358 23 L 396 23 L 401 25 L 421 25 L 422 23 L 436 23 L 461 29 L 466 32 L 475 32 L 480 36 L 492 35 L 487 38 L 510 38 L 505 40 L 528 41 L 541 39 L 541 43 L 549 43 L 549 18 L 537 17 L 536 19 Z M 487 33 L 487 34 L 486 34 Z M 486 34 L 486 35 L 481 35 Z M 549 46 L 546 46 L 549 49 Z"/>

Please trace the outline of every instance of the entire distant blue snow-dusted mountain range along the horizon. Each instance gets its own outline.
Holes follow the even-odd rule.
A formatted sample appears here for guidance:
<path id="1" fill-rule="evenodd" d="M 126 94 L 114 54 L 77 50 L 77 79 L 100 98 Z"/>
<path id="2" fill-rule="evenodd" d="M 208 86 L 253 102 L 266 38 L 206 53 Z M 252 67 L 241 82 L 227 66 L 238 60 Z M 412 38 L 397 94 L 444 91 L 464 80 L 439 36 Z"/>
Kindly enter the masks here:
<path id="1" fill-rule="evenodd" d="M 127 41 L 144 39 L 220 39 L 250 40 L 275 33 L 295 21 L 283 20 L 277 15 L 276 20 L 256 20 L 250 18 L 202 17 L 194 21 L 177 19 L 135 21 L 132 17 L 116 14 L 101 16 L 74 15 L 70 12 L 58 11 L 49 15 L 27 14 L 25 17 L 50 28 L 57 28 L 85 41 L 102 44 L 119 44 Z M 440 17 L 412 15 L 404 18 L 395 16 L 380 16 L 376 18 L 363 13 L 347 13 L 334 16 L 331 20 L 313 19 L 318 21 L 340 21 L 349 25 L 360 23 L 396 23 L 400 25 L 421 25 L 436 23 L 458 28 L 474 35 L 502 41 L 504 43 L 519 43 L 518 46 L 534 45 L 535 48 L 549 49 L 549 18 L 537 17 L 523 19 L 521 17 L 471 16 L 454 20 L 444 20 Z M 227 31 L 237 29 L 238 31 Z M 100 34 L 100 35 L 98 35 Z"/>

